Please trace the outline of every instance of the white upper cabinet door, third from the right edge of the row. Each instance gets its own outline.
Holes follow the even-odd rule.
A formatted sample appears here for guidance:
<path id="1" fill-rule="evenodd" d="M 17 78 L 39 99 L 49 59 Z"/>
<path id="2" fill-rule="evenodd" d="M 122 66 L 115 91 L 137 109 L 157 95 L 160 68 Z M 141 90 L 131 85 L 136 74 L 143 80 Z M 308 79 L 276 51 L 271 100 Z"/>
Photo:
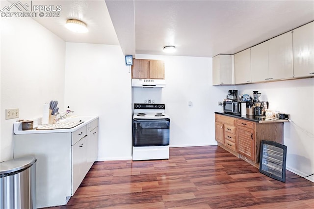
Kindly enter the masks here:
<path id="1" fill-rule="evenodd" d="M 251 78 L 252 82 L 269 80 L 268 41 L 251 48 Z"/>

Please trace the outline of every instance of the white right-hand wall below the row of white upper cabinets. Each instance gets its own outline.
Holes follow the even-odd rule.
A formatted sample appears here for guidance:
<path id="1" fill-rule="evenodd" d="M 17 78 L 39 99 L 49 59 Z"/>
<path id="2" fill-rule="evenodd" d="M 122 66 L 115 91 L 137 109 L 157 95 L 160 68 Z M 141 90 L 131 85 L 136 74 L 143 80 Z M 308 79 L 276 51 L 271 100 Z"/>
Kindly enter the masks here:
<path id="1" fill-rule="evenodd" d="M 314 173 L 314 78 L 285 80 L 234 86 L 240 94 L 262 93 L 260 100 L 269 109 L 290 114 L 292 122 L 284 124 L 287 146 L 287 169 L 307 176 Z M 314 182 L 314 177 L 309 177 Z"/>

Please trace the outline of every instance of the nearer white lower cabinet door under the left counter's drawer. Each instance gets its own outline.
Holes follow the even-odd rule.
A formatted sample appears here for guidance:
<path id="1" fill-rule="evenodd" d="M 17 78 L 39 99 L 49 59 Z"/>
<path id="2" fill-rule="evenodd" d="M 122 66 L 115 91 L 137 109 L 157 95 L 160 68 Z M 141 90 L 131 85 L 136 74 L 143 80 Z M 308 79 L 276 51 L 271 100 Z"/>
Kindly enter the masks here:
<path id="1" fill-rule="evenodd" d="M 79 184 L 86 175 L 87 165 L 87 136 L 84 136 L 75 145 L 72 146 L 72 195 L 78 189 Z"/>

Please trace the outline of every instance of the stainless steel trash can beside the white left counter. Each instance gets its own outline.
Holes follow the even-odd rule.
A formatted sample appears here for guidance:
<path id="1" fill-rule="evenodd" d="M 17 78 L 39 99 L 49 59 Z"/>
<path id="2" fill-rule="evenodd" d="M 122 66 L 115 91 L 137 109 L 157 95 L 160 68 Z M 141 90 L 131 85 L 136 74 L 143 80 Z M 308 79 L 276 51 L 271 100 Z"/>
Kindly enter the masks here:
<path id="1" fill-rule="evenodd" d="M 36 159 L 0 163 L 0 209 L 36 209 Z"/>

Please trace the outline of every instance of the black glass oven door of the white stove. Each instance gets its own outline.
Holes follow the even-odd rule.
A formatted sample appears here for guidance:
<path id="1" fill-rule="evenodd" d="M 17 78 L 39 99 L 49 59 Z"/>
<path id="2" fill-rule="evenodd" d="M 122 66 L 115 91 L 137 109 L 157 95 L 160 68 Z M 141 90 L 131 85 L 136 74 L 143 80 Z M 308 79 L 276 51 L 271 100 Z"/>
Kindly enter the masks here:
<path id="1" fill-rule="evenodd" d="M 170 119 L 133 119 L 133 146 L 169 145 Z"/>

